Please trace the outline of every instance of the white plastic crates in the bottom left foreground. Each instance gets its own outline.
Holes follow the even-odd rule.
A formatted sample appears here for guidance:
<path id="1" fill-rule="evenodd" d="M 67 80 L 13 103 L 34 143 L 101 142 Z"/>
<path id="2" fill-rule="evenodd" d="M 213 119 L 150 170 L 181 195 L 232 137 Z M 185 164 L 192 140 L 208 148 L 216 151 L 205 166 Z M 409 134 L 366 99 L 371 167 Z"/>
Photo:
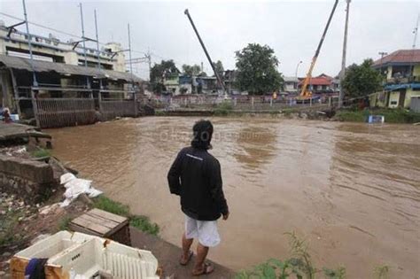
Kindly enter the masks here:
<path id="1" fill-rule="evenodd" d="M 60 234 L 59 236 L 57 236 Z M 91 278 L 103 270 L 115 278 L 121 279 L 158 279 L 156 275 L 158 260 L 152 252 L 128 247 L 99 236 L 89 236 L 82 233 L 70 234 L 60 232 L 43 239 L 40 243 L 17 253 L 13 259 L 30 260 L 30 258 L 49 258 L 45 265 L 45 275 L 48 279 L 69 278 L 70 271 L 83 278 Z M 38 252 L 39 248 L 43 251 Z M 47 247 L 48 246 L 48 247 Z M 53 253 L 53 254 L 51 254 Z M 32 256 L 32 254 L 34 256 Z M 36 255 L 36 256 L 35 256 Z M 26 266 L 25 266 L 26 267 Z M 22 278 L 25 272 L 12 269 L 12 278 Z M 23 272 L 22 272 L 23 271 Z"/>

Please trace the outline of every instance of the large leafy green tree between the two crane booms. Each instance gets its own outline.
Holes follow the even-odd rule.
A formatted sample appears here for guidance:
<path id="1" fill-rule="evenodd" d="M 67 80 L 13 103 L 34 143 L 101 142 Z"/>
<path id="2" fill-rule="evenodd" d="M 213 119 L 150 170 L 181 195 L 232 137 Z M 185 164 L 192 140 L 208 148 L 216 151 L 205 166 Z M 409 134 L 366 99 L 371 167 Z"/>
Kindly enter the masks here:
<path id="1" fill-rule="evenodd" d="M 262 95 L 280 89 L 282 74 L 278 73 L 278 60 L 268 45 L 249 43 L 236 51 L 237 85 L 250 94 Z"/>

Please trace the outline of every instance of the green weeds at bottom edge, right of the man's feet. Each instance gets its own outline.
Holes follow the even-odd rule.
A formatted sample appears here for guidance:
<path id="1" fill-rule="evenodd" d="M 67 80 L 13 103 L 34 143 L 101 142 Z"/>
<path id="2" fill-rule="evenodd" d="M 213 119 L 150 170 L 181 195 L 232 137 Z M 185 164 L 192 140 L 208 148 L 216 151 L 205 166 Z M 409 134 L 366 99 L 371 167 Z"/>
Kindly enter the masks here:
<path id="1" fill-rule="evenodd" d="M 314 267 L 311 256 L 307 252 L 307 243 L 300 239 L 294 232 L 286 233 L 289 236 L 291 247 L 291 257 L 285 260 L 270 259 L 250 270 L 243 270 L 235 276 L 236 279 L 344 279 L 346 278 L 346 268 L 338 267 L 331 269 L 328 267 Z M 381 266 L 375 270 L 375 278 L 388 278 L 389 267 Z"/>

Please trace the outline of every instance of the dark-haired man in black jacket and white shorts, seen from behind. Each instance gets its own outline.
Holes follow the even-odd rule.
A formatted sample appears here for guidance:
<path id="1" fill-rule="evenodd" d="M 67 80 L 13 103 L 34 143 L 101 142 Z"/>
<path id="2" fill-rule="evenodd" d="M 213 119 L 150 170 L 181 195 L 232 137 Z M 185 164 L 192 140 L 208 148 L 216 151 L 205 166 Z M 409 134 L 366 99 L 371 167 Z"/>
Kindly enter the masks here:
<path id="1" fill-rule="evenodd" d="M 213 136 L 213 125 L 208 120 L 199 120 L 192 128 L 190 147 L 181 150 L 167 174 L 172 194 L 181 197 L 185 213 L 183 255 L 180 264 L 191 260 L 191 244 L 198 238 L 197 260 L 192 275 L 205 275 L 214 271 L 206 263 L 209 247 L 220 243 L 217 219 L 228 220 L 229 209 L 222 190 L 222 175 L 219 161 L 207 152 Z"/>

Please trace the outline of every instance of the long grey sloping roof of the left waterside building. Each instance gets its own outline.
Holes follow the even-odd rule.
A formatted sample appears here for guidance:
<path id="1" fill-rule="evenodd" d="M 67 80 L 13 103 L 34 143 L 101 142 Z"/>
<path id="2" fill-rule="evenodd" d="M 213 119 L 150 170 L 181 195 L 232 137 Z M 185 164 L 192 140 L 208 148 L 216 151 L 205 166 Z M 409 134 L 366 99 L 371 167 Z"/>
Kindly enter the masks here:
<path id="1" fill-rule="evenodd" d="M 14 56 L 0 54 L 0 65 L 17 69 L 27 70 L 32 72 L 31 61 L 28 58 L 19 58 Z M 64 63 L 48 62 L 33 60 L 34 70 L 37 73 L 41 72 L 56 72 L 58 74 L 74 74 L 74 75 L 88 75 L 97 78 L 107 78 L 122 81 L 142 81 L 139 77 L 134 74 L 125 72 L 117 72 L 112 70 L 97 69 L 93 67 L 69 65 Z"/>

